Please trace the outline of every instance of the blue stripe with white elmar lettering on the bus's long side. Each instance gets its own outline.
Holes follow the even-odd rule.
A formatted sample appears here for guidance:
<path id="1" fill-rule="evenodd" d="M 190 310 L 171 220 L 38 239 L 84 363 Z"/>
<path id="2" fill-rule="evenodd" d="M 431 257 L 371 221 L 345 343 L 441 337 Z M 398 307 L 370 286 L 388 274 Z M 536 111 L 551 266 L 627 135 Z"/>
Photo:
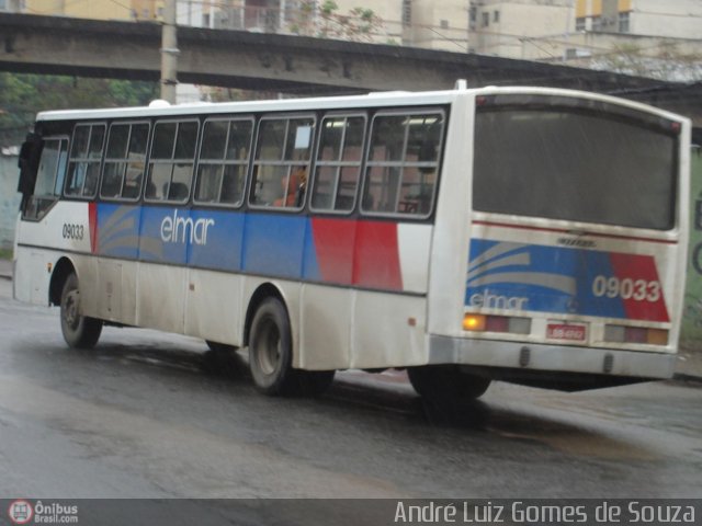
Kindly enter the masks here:
<path id="1" fill-rule="evenodd" d="M 312 221 L 306 217 L 100 204 L 98 232 L 102 255 L 320 278 Z"/>

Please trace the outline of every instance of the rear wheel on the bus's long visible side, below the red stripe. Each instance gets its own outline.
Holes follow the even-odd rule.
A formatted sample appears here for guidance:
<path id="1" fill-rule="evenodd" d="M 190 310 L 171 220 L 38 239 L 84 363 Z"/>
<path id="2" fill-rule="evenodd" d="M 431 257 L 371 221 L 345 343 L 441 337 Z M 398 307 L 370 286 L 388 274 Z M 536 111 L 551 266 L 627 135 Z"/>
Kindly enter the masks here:
<path id="1" fill-rule="evenodd" d="M 295 395 L 301 371 L 293 369 L 293 341 L 290 319 L 282 301 L 261 302 L 251 322 L 249 368 L 256 388 L 271 397 Z"/>

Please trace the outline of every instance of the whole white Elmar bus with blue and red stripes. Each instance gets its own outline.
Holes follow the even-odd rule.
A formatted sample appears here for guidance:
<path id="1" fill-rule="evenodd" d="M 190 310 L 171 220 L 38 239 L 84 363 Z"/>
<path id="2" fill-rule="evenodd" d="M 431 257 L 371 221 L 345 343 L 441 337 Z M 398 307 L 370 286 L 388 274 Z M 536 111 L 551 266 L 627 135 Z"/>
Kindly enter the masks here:
<path id="1" fill-rule="evenodd" d="M 485 88 L 45 112 L 21 155 L 16 299 L 248 347 L 268 395 L 407 368 L 423 397 L 669 378 L 688 119 Z"/>

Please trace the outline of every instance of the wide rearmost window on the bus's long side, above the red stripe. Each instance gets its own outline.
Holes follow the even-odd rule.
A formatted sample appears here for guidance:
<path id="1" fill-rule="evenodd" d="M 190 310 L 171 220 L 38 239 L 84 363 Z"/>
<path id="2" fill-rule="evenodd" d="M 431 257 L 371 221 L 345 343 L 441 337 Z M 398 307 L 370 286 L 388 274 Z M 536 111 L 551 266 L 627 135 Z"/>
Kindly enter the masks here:
<path id="1" fill-rule="evenodd" d="M 361 202 L 365 214 L 431 214 L 443 126 L 438 111 L 375 116 Z"/>

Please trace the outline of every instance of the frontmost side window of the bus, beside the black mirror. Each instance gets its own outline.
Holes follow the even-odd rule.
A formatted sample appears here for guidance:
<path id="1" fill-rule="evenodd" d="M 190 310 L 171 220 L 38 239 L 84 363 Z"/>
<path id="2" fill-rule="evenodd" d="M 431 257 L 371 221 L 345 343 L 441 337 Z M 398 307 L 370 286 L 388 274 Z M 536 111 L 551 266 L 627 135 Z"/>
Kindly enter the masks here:
<path id="1" fill-rule="evenodd" d="M 25 219 L 41 219 L 60 197 L 66 175 L 67 155 L 67 138 L 46 138 L 43 140 L 34 188 L 23 207 Z"/>

